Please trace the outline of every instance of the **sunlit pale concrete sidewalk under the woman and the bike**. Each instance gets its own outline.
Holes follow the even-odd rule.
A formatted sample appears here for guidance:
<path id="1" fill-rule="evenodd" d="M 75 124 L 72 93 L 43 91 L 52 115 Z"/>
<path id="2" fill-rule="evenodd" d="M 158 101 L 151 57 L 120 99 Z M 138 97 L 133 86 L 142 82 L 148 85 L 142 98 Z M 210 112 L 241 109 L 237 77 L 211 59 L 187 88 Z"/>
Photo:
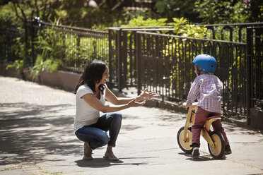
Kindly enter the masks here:
<path id="1" fill-rule="evenodd" d="M 83 161 L 83 143 L 74 135 L 75 95 L 64 90 L 0 76 L 0 174 L 263 174 L 260 131 L 224 123 L 233 150 L 226 159 L 180 150 L 176 135 L 186 114 L 150 107 L 125 109 L 114 152 L 105 147 Z"/>

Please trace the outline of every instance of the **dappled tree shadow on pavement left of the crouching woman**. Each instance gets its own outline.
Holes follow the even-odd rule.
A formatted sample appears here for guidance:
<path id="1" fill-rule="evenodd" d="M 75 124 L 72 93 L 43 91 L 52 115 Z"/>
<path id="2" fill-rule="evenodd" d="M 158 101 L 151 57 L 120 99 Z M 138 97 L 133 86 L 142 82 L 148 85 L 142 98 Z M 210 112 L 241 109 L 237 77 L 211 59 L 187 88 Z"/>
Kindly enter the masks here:
<path id="1" fill-rule="evenodd" d="M 73 131 L 74 116 L 63 112 L 71 107 L 74 105 L 0 104 L 0 164 L 81 154 Z"/>

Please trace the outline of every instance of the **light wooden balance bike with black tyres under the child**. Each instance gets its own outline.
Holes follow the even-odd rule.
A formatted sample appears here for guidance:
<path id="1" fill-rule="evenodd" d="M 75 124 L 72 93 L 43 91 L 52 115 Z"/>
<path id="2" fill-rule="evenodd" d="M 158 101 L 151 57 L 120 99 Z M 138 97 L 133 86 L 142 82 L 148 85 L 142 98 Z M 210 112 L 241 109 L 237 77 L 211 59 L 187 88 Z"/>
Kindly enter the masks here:
<path id="1" fill-rule="evenodd" d="M 193 148 L 192 145 L 192 125 L 194 124 L 195 112 L 197 111 L 197 103 L 193 103 L 191 107 L 188 109 L 187 120 L 185 122 L 185 126 L 179 129 L 177 133 L 177 143 L 180 148 L 186 152 L 191 153 Z M 204 128 L 201 129 L 201 135 L 206 140 L 209 152 L 214 159 L 221 159 L 225 152 L 225 140 L 223 139 L 223 135 L 219 131 L 211 131 L 211 124 L 220 120 L 221 118 L 218 116 L 211 116 L 206 119 L 206 123 L 204 124 Z"/>

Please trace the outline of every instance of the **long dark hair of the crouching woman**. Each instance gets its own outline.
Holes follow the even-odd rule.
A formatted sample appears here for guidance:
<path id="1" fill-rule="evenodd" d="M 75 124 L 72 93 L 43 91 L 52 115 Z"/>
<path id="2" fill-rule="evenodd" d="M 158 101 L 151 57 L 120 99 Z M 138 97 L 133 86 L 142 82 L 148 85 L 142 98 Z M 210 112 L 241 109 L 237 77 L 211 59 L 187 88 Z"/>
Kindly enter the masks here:
<path id="1" fill-rule="evenodd" d="M 106 64 L 104 61 L 100 60 L 93 60 L 88 64 L 85 71 L 82 73 L 81 78 L 78 80 L 78 85 L 74 93 L 76 94 L 78 87 L 81 85 L 88 85 L 90 89 L 95 93 L 95 83 L 99 83 L 101 78 L 103 78 L 103 73 L 106 69 Z M 105 85 L 99 86 L 100 92 L 103 93 L 105 90 Z"/>

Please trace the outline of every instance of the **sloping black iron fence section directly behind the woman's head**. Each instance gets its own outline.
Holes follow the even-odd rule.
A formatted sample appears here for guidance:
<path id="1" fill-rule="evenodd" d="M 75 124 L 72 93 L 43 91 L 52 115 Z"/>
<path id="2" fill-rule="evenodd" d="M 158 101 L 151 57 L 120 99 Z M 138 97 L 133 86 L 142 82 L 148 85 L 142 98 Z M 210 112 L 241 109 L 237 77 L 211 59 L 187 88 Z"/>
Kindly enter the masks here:
<path id="1" fill-rule="evenodd" d="M 25 23 L 25 35 L 33 63 L 45 49 L 48 56 L 62 60 L 64 68 L 76 72 L 82 72 L 93 59 L 109 60 L 107 32 L 33 20 Z"/>

